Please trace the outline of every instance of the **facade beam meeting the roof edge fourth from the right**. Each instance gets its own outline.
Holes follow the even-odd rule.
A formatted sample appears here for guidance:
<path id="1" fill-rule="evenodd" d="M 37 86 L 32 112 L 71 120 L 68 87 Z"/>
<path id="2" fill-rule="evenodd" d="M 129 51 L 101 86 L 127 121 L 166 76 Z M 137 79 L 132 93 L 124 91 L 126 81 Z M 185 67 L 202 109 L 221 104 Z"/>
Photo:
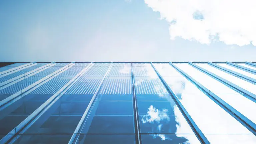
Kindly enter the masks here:
<path id="1" fill-rule="evenodd" d="M 200 71 L 202 71 L 202 72 L 212 76 L 213 78 L 219 80 L 220 82 L 222 82 L 223 84 L 229 86 L 230 88 L 232 88 L 232 89 L 234 89 L 236 91 L 239 91 L 240 93 L 247 94 L 249 97 L 246 97 L 246 98 L 248 98 L 248 99 L 250 99 L 250 100 L 252 100 L 254 102 L 256 101 L 256 95 L 255 94 L 253 94 L 253 93 L 251 93 L 251 92 L 249 92 L 249 91 L 239 87 L 238 85 L 236 85 L 234 83 L 231 83 L 230 81 L 228 81 L 228 80 L 226 80 L 226 79 L 224 79 L 224 78 L 222 78 L 222 77 L 220 77 L 220 76 L 218 76 L 218 75 L 216 75 L 216 74 L 214 74 L 214 73 L 212 73 L 212 72 L 210 72 L 210 71 L 208 71 L 208 70 L 206 70 L 206 69 L 204 69 L 204 68 L 202 68 L 202 67 L 200 67 L 200 66 L 198 66 L 198 65 L 196 65 L 194 63 L 192 63 L 192 62 L 189 62 L 189 64 L 191 66 L 195 67 L 196 69 L 199 69 Z"/>

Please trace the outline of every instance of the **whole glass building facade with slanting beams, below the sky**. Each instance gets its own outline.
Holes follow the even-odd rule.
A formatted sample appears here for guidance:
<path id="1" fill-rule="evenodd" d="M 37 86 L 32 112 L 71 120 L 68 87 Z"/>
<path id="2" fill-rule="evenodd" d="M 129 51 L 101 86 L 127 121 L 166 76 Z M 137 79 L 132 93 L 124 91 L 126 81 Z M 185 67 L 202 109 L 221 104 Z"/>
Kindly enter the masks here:
<path id="1" fill-rule="evenodd" d="M 256 63 L 0 67 L 0 143 L 255 144 Z"/>

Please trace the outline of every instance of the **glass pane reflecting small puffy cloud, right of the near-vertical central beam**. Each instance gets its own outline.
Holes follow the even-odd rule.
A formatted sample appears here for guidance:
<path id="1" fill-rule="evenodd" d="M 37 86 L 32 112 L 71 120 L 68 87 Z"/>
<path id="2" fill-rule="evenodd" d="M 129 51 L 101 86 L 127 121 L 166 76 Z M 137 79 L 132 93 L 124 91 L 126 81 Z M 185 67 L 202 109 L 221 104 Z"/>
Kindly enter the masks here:
<path id="1" fill-rule="evenodd" d="M 194 134 L 171 96 L 159 95 L 159 99 L 156 96 L 138 95 L 137 105 L 141 133 Z M 148 99 L 146 99 L 147 97 Z M 151 97 L 154 99 L 150 99 Z"/>

